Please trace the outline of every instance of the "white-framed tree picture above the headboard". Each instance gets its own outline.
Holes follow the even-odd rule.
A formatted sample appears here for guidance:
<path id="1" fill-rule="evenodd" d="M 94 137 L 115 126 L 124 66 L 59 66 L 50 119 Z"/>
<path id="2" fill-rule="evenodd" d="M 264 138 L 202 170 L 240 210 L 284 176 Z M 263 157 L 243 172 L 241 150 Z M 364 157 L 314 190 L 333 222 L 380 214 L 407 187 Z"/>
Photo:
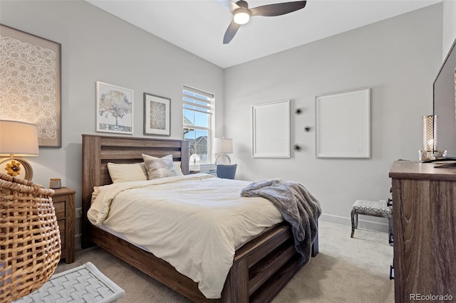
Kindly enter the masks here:
<path id="1" fill-rule="evenodd" d="M 133 90 L 97 81 L 96 130 L 133 134 Z"/>

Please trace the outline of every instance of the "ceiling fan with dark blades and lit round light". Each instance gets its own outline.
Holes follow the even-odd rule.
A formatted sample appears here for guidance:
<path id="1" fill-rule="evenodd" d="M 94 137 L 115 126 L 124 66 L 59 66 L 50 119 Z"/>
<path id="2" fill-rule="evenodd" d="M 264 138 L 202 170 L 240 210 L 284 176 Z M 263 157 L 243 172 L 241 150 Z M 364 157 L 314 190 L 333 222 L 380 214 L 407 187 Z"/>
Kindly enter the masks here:
<path id="1" fill-rule="evenodd" d="M 229 0 L 217 0 L 219 4 L 222 4 L 226 9 L 228 9 L 233 14 L 233 21 L 229 23 L 227 31 L 223 37 L 223 44 L 227 44 L 234 38 L 237 30 L 242 24 L 249 22 L 250 17 L 252 16 L 281 16 L 284 14 L 289 14 L 292 11 L 297 11 L 299 9 L 304 9 L 307 1 L 293 1 L 293 2 L 283 2 L 277 4 L 268 4 L 263 6 L 257 6 L 252 9 L 249 9 L 249 4 L 247 1 L 240 0 L 234 3 Z"/>

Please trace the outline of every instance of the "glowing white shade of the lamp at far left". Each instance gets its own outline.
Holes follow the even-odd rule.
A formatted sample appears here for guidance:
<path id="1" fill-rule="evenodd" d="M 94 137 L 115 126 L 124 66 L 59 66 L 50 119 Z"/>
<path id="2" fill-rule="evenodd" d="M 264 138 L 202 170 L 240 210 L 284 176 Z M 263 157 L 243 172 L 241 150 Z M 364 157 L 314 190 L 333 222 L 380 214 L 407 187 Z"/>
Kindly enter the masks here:
<path id="1" fill-rule="evenodd" d="M 38 156 L 35 124 L 0 120 L 0 156 Z"/>

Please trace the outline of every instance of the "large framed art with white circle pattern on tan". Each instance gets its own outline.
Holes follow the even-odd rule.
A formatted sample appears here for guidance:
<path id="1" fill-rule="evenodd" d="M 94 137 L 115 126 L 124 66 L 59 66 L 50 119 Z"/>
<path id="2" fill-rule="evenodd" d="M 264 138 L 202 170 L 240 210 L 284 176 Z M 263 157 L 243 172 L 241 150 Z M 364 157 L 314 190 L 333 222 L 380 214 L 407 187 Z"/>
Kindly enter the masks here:
<path id="1" fill-rule="evenodd" d="M 61 44 L 0 24 L 0 119 L 38 127 L 40 147 L 61 147 Z"/>

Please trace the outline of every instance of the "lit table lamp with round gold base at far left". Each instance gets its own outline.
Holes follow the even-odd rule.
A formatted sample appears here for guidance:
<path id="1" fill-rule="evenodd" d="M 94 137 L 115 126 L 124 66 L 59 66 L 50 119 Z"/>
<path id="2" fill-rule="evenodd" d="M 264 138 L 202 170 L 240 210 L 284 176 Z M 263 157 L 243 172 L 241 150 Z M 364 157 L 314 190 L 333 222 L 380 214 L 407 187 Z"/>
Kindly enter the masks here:
<path id="1" fill-rule="evenodd" d="M 38 129 L 35 124 L 0 120 L 0 172 L 30 181 L 31 165 L 22 156 L 38 156 Z"/>

